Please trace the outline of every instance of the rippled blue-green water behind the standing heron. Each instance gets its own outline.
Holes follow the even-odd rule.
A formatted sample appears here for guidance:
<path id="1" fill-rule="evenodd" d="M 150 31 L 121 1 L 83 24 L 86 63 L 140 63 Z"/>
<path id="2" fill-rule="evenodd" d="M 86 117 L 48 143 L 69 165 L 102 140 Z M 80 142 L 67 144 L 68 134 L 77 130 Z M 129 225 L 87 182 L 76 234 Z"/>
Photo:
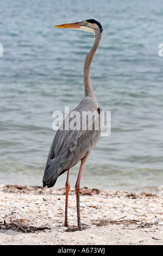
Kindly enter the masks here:
<path id="1" fill-rule="evenodd" d="M 91 65 L 99 106 L 111 111 L 81 186 L 157 191 L 163 185 L 162 1 L 1 1 L 0 182 L 41 185 L 55 131 L 52 113 L 84 97 L 83 66 L 93 44 L 54 25 L 97 19 L 104 33 Z M 79 164 L 71 169 L 77 179 Z M 65 185 L 66 173 L 56 188 Z"/>

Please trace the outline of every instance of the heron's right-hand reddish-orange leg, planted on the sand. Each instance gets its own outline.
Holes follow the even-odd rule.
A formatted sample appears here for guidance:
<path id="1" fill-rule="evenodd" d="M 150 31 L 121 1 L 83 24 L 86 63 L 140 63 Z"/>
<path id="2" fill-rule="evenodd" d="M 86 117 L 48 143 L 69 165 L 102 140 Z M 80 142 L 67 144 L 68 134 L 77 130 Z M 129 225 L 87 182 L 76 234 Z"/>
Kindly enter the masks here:
<path id="1" fill-rule="evenodd" d="M 90 153 L 89 153 L 89 154 L 90 154 Z M 79 231 L 82 230 L 82 226 L 81 226 L 81 222 L 80 222 L 80 201 L 79 201 L 80 179 L 81 179 L 81 176 L 82 176 L 82 171 L 83 171 L 84 163 L 85 163 L 87 157 L 89 156 L 89 154 L 87 154 L 87 155 L 84 157 L 84 159 L 81 160 L 80 169 L 79 169 L 79 174 L 78 174 L 78 178 L 77 178 L 77 182 L 76 182 L 76 186 L 75 186 L 76 197 L 77 197 L 77 217 L 78 217 L 78 230 L 79 230 Z"/>

